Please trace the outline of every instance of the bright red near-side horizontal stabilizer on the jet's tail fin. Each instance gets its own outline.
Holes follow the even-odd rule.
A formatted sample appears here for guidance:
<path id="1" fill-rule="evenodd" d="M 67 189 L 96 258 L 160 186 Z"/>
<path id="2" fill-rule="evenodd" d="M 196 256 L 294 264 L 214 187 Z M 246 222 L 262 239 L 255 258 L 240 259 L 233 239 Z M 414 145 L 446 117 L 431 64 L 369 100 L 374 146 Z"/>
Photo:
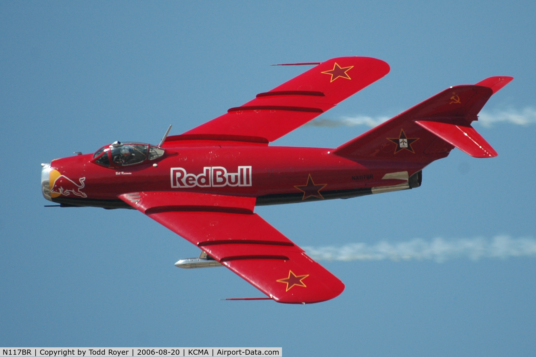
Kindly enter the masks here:
<path id="1" fill-rule="evenodd" d="M 473 157 L 495 157 L 497 152 L 471 125 L 416 120 L 416 124 Z"/>

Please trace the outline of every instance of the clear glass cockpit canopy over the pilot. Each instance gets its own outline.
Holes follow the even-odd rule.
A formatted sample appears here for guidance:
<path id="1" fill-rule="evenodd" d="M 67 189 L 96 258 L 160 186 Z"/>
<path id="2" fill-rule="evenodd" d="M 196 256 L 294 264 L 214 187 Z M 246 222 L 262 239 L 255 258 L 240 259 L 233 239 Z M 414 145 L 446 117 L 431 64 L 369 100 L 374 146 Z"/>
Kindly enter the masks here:
<path id="1" fill-rule="evenodd" d="M 165 150 L 140 142 L 121 143 L 115 141 L 96 151 L 95 163 L 103 166 L 130 166 L 161 157 Z"/>

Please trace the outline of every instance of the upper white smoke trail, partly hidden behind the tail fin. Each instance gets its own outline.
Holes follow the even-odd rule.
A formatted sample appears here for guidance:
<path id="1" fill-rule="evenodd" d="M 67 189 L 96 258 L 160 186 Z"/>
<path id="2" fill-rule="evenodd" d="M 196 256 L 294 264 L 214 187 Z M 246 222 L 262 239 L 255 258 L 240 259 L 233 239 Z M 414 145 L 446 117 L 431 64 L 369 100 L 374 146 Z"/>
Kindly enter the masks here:
<path id="1" fill-rule="evenodd" d="M 339 119 L 327 119 L 317 118 L 309 121 L 303 126 L 320 126 L 320 127 L 338 127 L 338 126 L 357 126 L 366 125 L 369 127 L 375 127 L 378 124 L 389 120 L 389 117 L 369 117 L 369 116 L 356 116 L 356 117 L 341 117 Z M 527 107 L 522 111 L 514 109 L 510 110 L 494 110 L 492 112 L 481 112 L 479 114 L 478 123 L 485 127 L 492 127 L 497 123 L 508 123 L 515 125 L 529 125 L 536 123 L 536 110 Z"/>

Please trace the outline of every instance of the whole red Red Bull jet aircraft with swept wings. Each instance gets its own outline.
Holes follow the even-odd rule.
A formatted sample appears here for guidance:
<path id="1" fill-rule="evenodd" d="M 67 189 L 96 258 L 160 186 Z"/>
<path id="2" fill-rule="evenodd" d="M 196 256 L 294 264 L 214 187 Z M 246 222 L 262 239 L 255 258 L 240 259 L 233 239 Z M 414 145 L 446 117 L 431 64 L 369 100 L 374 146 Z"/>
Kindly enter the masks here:
<path id="1" fill-rule="evenodd" d="M 455 147 L 497 156 L 471 122 L 512 77 L 447 88 L 338 148 L 269 146 L 389 70 L 369 57 L 326 60 L 158 146 L 116 141 L 42 164 L 43 195 L 61 207 L 137 209 L 203 250 L 177 266 L 225 265 L 267 295 L 259 299 L 332 299 L 344 284 L 255 206 L 419 187 L 422 169 Z"/>

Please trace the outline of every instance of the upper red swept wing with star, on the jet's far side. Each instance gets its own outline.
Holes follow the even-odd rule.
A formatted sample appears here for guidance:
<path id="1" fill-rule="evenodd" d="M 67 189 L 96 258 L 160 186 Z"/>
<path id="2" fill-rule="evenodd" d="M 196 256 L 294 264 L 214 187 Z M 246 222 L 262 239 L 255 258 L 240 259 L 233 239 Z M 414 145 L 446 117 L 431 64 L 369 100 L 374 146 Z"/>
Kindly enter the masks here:
<path id="1" fill-rule="evenodd" d="M 333 108 L 389 73 L 382 60 L 338 57 L 259 93 L 240 107 L 166 141 L 231 140 L 268 143 Z M 174 143 L 176 145 L 176 142 Z M 164 145 L 166 146 L 166 145 Z"/>

